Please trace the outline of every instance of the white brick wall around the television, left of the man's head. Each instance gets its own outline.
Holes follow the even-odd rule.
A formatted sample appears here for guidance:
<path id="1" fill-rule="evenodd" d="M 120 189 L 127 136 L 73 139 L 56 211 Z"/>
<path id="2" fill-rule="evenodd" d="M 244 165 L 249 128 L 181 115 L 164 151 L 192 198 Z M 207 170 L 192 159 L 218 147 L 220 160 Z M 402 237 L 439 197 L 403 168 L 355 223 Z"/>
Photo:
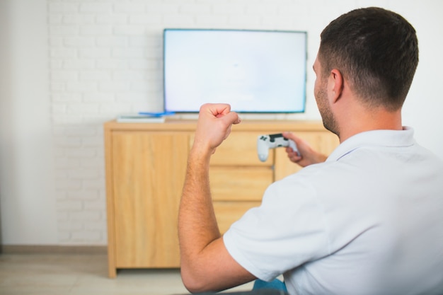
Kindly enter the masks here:
<path id="1" fill-rule="evenodd" d="M 163 109 L 163 28 L 307 30 L 311 64 L 321 29 L 359 1 L 327 2 L 47 0 L 59 243 L 107 243 L 103 122 Z"/>

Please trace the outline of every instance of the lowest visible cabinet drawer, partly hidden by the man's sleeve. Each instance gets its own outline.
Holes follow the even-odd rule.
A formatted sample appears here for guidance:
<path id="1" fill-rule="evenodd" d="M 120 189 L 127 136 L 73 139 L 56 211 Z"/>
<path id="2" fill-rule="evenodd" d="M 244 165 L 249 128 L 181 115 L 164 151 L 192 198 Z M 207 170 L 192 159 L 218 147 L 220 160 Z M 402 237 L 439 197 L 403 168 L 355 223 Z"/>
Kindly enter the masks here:
<path id="1" fill-rule="evenodd" d="M 234 221 L 261 202 L 214 202 L 215 216 L 221 233 L 225 233 Z"/>

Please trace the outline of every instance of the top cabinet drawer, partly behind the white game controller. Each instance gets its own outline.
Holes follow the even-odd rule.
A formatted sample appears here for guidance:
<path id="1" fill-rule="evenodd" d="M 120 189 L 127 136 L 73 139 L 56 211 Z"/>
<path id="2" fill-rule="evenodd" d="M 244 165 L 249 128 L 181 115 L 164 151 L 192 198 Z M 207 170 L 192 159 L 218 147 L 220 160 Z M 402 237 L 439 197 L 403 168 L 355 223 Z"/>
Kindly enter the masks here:
<path id="1" fill-rule="evenodd" d="M 211 157 L 212 166 L 272 166 L 274 150 L 270 149 L 267 161 L 262 162 L 257 154 L 258 132 L 233 132 L 217 147 Z"/>

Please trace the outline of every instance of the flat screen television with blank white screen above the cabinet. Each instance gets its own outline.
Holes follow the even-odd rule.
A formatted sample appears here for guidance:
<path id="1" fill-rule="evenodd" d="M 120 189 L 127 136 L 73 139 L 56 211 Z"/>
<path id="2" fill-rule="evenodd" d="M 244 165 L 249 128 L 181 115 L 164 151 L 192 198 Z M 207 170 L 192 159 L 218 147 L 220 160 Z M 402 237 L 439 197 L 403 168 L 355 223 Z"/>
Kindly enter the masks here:
<path id="1" fill-rule="evenodd" d="M 306 32 L 168 28 L 163 50 L 166 112 L 305 110 Z"/>

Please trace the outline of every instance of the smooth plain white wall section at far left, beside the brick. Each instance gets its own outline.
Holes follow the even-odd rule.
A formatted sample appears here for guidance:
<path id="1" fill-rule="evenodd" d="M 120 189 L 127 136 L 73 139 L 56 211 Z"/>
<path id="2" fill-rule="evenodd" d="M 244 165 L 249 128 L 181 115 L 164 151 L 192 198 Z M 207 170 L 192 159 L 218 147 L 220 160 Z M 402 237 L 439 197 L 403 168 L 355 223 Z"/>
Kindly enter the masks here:
<path id="1" fill-rule="evenodd" d="M 0 1 L 1 240 L 54 244 L 45 0 Z"/>

